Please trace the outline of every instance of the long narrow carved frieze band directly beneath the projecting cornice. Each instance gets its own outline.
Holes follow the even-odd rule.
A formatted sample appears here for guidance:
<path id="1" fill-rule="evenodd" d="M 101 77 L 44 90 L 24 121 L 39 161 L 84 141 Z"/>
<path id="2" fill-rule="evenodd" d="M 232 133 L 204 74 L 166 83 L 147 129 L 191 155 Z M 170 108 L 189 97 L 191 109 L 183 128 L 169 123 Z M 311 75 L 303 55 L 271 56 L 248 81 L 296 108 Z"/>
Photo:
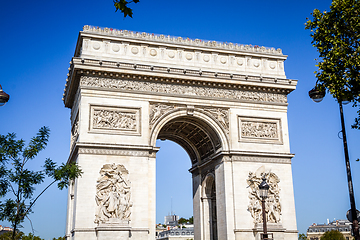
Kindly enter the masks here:
<path id="1" fill-rule="evenodd" d="M 185 96 L 198 96 L 208 98 L 223 98 L 253 102 L 286 103 L 286 93 L 272 93 L 260 91 L 246 91 L 237 89 L 212 88 L 205 86 L 184 86 L 170 83 L 156 83 L 133 81 L 126 79 L 113 79 L 103 77 L 82 76 L 82 87 L 98 87 L 117 90 L 132 90 L 151 93 L 176 94 Z"/>

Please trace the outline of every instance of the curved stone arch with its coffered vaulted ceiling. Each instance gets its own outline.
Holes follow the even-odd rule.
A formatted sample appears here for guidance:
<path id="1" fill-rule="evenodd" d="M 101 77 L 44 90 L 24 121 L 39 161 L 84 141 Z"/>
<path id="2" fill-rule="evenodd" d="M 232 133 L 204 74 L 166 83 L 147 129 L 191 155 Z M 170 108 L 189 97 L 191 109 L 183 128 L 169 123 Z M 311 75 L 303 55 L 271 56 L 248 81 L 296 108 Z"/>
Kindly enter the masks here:
<path id="1" fill-rule="evenodd" d="M 193 165 L 229 148 L 223 127 L 196 109 L 191 114 L 186 108 L 175 109 L 161 116 L 151 130 L 150 145 L 155 147 L 157 139 L 178 143 L 189 154 Z"/>

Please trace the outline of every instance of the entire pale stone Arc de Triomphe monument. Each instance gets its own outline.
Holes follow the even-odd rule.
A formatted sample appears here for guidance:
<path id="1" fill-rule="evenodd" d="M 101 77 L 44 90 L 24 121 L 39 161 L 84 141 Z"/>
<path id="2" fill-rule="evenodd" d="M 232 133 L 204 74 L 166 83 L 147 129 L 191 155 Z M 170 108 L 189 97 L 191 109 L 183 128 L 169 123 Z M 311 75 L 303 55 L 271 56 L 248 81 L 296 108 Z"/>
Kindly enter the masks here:
<path id="1" fill-rule="evenodd" d="M 189 154 L 196 240 L 297 239 L 280 49 L 84 26 L 71 109 L 67 239 L 155 239 L 157 139 Z M 171 158 L 171 156 L 169 156 Z"/>

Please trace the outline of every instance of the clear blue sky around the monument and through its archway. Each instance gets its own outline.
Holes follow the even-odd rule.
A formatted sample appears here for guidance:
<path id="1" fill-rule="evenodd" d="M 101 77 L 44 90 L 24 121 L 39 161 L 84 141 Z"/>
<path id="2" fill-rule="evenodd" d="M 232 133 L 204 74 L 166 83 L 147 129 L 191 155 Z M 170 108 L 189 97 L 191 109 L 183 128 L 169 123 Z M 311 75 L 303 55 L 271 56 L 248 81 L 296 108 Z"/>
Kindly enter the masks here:
<path id="1" fill-rule="evenodd" d="M 10 101 L 0 108 L 0 134 L 16 132 L 29 140 L 41 126 L 51 129 L 47 149 L 31 162 L 38 169 L 46 157 L 67 160 L 70 110 L 61 98 L 69 61 L 84 25 L 227 41 L 281 48 L 288 55 L 285 72 L 297 79 L 289 95 L 289 133 L 298 230 L 312 223 L 344 219 L 350 208 L 339 109 L 327 96 L 320 104 L 307 92 L 314 86 L 316 49 L 306 18 L 313 9 L 329 9 L 323 1 L 146 1 L 132 5 L 133 18 L 114 12 L 112 1 L 2 1 L 0 8 L 0 84 Z M 360 198 L 359 130 L 350 125 L 356 109 L 345 106 L 355 198 Z M 190 161 L 179 146 L 159 142 L 157 222 L 172 210 L 192 216 Z M 169 181 L 170 180 L 170 181 Z M 40 190 L 40 188 L 39 188 Z M 35 234 L 45 239 L 65 233 L 66 190 L 52 187 L 34 208 Z M 360 202 L 357 202 L 358 208 Z M 2 225 L 9 225 L 0 222 Z M 25 222 L 23 231 L 29 232 Z"/>

